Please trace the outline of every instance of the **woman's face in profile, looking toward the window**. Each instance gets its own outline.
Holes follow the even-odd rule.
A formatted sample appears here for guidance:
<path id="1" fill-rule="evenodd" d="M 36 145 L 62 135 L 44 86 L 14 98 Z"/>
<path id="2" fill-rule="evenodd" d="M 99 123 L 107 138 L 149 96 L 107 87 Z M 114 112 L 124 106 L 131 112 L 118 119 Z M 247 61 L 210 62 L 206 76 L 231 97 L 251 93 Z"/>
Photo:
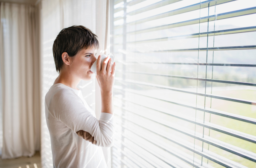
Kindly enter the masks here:
<path id="1" fill-rule="evenodd" d="M 82 49 L 76 54 L 76 56 L 74 56 L 73 61 L 70 64 L 70 70 L 77 78 L 84 81 L 90 80 L 93 74 L 93 72 L 90 71 L 90 68 L 95 61 L 95 48 Z"/>

